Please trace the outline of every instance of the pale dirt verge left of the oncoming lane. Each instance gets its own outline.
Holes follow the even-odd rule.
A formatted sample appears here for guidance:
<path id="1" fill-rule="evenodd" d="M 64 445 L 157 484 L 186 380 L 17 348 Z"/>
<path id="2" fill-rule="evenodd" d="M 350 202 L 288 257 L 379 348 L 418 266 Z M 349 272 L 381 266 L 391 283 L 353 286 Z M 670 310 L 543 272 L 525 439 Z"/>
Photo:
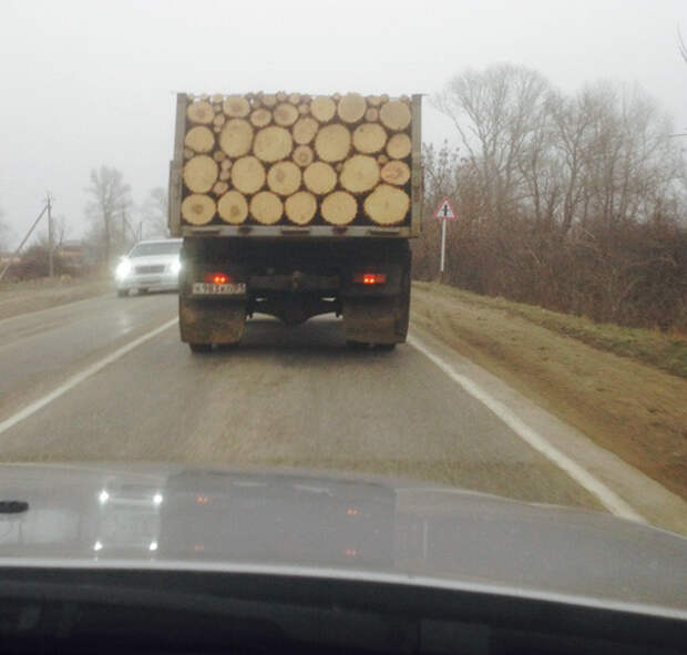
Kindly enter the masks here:
<path id="1" fill-rule="evenodd" d="M 37 279 L 0 284 L 0 320 L 99 296 L 112 289 L 104 278 Z"/>

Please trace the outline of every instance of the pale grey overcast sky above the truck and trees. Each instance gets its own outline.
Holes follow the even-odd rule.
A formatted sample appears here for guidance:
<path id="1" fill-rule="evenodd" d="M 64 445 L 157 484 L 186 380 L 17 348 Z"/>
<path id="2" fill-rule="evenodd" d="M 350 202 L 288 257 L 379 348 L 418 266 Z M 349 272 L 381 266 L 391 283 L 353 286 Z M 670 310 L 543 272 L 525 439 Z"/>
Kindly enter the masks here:
<path id="1" fill-rule="evenodd" d="M 687 0 L 0 0 L 0 208 L 17 242 L 48 190 L 82 234 L 91 168 L 166 185 L 174 93 L 428 93 L 512 62 L 574 92 L 638 83 L 687 132 Z M 454 139 L 425 103 L 424 141 Z M 687 139 L 685 140 L 687 146 Z"/>

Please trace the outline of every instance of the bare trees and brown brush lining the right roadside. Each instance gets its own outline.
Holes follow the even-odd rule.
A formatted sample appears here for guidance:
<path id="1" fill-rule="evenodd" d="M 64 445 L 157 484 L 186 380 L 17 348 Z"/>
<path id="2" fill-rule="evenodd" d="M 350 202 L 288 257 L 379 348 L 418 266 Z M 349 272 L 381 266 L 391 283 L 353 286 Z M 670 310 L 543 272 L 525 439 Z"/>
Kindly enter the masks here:
<path id="1" fill-rule="evenodd" d="M 510 64 L 464 71 L 433 98 L 459 146 L 425 145 L 416 277 L 621 325 L 687 329 L 687 175 L 669 117 L 638 89 L 574 95 Z"/>

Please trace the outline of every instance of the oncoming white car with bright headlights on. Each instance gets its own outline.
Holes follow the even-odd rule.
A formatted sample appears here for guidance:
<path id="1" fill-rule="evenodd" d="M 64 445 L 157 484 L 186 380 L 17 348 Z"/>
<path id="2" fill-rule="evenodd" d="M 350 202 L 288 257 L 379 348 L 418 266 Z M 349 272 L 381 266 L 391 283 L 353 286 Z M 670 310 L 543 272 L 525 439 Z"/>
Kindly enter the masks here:
<path id="1" fill-rule="evenodd" d="M 181 238 L 139 242 L 122 257 L 114 273 L 117 296 L 129 295 L 131 289 L 144 294 L 150 289 L 177 290 L 182 268 Z"/>

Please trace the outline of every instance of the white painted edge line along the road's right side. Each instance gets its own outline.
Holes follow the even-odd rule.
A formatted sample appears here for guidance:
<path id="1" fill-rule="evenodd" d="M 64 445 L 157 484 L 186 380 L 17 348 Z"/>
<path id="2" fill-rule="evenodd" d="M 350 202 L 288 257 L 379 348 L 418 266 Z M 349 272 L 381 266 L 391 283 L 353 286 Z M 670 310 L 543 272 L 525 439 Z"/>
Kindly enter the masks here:
<path id="1" fill-rule="evenodd" d="M 565 471 L 577 484 L 586 489 L 592 495 L 616 516 L 646 523 L 646 519 L 637 513 L 626 503 L 615 491 L 611 490 L 603 482 L 597 480 L 592 473 L 581 467 L 577 462 L 552 446 L 542 434 L 527 426 L 505 405 L 490 396 L 479 385 L 470 378 L 457 372 L 453 367 L 444 361 L 439 355 L 428 348 L 420 339 L 414 336 L 408 337 L 408 342 L 422 352 L 428 359 L 438 366 L 454 382 L 460 385 L 464 391 L 486 406 L 496 417 L 499 417 L 515 434 L 530 444 L 534 450 L 541 452 L 547 460 Z"/>

